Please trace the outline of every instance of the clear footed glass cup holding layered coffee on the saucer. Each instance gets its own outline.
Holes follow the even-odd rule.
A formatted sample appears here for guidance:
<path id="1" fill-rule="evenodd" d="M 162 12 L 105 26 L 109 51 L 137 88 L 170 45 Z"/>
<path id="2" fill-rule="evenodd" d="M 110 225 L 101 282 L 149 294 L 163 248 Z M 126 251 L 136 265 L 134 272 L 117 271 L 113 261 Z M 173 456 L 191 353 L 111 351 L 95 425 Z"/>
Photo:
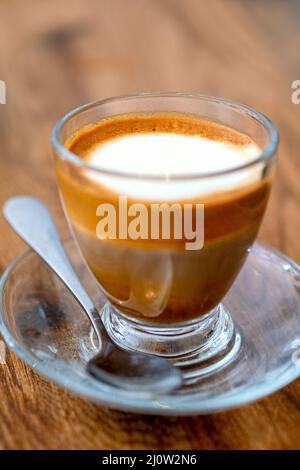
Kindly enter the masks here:
<path id="1" fill-rule="evenodd" d="M 186 168 L 182 174 L 173 174 L 171 168 L 167 174 L 139 174 L 124 167 L 96 167 L 66 148 L 67 140 L 83 126 L 114 116 L 149 113 L 199 116 L 251 137 L 261 150 L 250 163 L 225 171 L 195 174 Z M 220 98 L 142 93 L 71 111 L 57 122 L 52 141 L 65 214 L 106 295 L 102 315 L 113 340 L 123 348 L 166 356 L 179 366 L 192 367 L 196 377 L 232 361 L 242 337 L 222 299 L 246 260 L 267 205 L 278 146 L 273 124 L 247 106 Z M 236 178 L 246 181 L 249 172 L 255 175 L 255 183 L 251 180 L 235 193 L 232 182 Z M 132 192 L 137 183 L 147 197 Z M 203 188 L 214 188 L 213 197 L 201 196 Z M 163 222 L 155 237 L 143 236 L 141 231 L 128 237 L 126 230 L 120 235 L 121 212 L 131 214 L 131 220 L 133 214 L 146 213 L 149 228 L 152 207 L 159 206 L 163 214 L 161 204 L 169 216 L 169 236 L 163 235 Z M 113 237 L 99 228 L 106 205 L 115 208 L 119 223 L 118 235 L 115 232 Z M 177 213 L 178 219 L 176 210 L 181 214 Z M 186 232 L 181 238 L 175 235 L 176 220 L 182 228 L 188 214 L 190 220 L 199 216 L 199 233 L 192 230 L 192 224 L 188 233 L 195 239 Z"/>

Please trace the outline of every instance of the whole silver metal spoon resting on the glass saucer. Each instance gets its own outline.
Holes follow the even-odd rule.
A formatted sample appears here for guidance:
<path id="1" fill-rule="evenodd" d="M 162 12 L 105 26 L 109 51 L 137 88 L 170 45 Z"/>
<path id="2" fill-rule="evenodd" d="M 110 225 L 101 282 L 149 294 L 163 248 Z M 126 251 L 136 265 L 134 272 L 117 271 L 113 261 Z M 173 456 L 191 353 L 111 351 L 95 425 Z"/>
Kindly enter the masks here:
<path id="1" fill-rule="evenodd" d="M 87 314 L 98 337 L 98 354 L 87 363 L 94 377 L 122 389 L 149 395 L 170 392 L 182 383 L 181 372 L 166 359 L 116 346 L 81 284 L 64 249 L 48 208 L 30 196 L 9 199 L 4 215 L 17 234 L 64 282 Z"/>

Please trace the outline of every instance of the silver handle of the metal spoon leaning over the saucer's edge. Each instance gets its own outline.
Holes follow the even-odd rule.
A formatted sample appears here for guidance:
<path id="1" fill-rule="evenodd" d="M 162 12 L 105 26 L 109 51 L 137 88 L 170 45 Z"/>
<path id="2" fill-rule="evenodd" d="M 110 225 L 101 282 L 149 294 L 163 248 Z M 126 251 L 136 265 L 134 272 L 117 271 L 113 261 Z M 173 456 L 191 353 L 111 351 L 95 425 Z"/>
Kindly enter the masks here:
<path id="1" fill-rule="evenodd" d="M 98 339 L 107 337 L 98 311 L 78 278 L 45 204 L 31 196 L 9 199 L 5 218 L 17 234 L 50 266 L 88 315 Z"/>

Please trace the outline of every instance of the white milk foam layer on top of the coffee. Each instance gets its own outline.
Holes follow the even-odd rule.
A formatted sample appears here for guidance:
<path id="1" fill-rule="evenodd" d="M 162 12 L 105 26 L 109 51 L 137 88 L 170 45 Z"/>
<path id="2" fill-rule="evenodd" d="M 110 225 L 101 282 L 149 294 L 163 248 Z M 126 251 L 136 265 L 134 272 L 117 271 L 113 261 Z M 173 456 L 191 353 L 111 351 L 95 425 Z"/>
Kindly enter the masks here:
<path id="1" fill-rule="evenodd" d="M 111 190 L 142 199 L 181 199 L 238 189 L 259 181 L 262 164 L 229 175 L 170 181 L 174 175 L 230 170 L 254 160 L 260 149 L 254 143 L 237 146 L 200 136 L 174 133 L 138 133 L 121 136 L 93 147 L 86 157 L 94 167 L 142 176 L 162 175 L 165 180 L 128 179 L 87 170 L 89 178 Z"/>

